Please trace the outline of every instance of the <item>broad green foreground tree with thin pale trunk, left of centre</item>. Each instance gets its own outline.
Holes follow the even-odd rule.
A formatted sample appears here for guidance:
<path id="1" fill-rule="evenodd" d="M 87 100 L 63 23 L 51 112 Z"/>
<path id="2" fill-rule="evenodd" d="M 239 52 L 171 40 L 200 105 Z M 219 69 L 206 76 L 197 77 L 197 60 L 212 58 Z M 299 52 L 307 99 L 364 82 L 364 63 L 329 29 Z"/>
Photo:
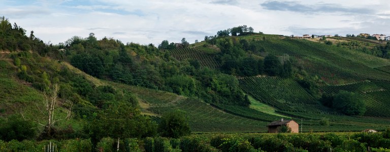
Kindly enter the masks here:
<path id="1" fill-rule="evenodd" d="M 94 140 L 104 137 L 116 138 L 117 150 L 119 150 L 121 138 L 153 136 L 155 127 L 149 117 L 141 115 L 140 109 L 133 108 L 130 103 L 119 102 L 101 111 L 96 119 L 89 123 L 87 130 Z"/>

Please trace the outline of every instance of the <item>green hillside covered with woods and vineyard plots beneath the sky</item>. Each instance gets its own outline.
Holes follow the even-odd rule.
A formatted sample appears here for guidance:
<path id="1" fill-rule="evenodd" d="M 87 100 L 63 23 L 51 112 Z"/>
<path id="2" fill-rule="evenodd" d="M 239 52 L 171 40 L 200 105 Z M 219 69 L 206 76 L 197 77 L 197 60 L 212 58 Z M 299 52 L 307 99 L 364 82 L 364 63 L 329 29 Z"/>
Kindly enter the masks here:
<path id="1" fill-rule="evenodd" d="M 175 110 L 196 133 L 264 133 L 282 117 L 303 123 L 304 132 L 384 130 L 390 123 L 390 60 L 360 50 L 363 45 L 337 44 L 389 49 L 376 41 L 335 38 L 327 45 L 246 33 L 161 48 L 90 34 L 47 45 L 16 27 L 0 35 L 6 42 L 0 46 L 0 119 L 7 122 L 0 127 L 17 121 L 36 132 L 23 139 L 91 138 L 95 144 L 106 136 L 155 136 L 162 116 Z M 341 90 L 363 99 L 362 115 L 322 102 Z M 54 98 L 58 121 L 50 131 L 43 109 Z M 119 136 L 115 125 L 121 123 L 137 130 Z"/>

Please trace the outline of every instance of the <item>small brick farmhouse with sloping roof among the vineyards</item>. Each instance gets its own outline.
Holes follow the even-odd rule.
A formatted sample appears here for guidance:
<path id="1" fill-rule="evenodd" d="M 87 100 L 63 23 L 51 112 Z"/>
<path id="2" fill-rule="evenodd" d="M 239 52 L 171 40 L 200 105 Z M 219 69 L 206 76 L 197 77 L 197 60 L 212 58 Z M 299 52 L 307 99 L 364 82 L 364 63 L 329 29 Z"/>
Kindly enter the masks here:
<path id="1" fill-rule="evenodd" d="M 277 120 L 268 124 L 268 132 L 269 133 L 278 133 L 280 127 L 286 126 L 291 130 L 291 133 L 299 133 L 299 124 L 294 120 Z"/>

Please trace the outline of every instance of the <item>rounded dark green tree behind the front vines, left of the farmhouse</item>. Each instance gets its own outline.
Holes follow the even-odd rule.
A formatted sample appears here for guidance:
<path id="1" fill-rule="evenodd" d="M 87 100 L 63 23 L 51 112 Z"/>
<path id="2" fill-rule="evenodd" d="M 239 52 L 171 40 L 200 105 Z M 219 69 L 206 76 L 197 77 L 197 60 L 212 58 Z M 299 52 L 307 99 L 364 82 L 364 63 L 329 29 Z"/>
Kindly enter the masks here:
<path id="1" fill-rule="evenodd" d="M 185 113 L 174 110 L 161 116 L 158 132 L 163 137 L 179 138 L 191 133 Z"/>

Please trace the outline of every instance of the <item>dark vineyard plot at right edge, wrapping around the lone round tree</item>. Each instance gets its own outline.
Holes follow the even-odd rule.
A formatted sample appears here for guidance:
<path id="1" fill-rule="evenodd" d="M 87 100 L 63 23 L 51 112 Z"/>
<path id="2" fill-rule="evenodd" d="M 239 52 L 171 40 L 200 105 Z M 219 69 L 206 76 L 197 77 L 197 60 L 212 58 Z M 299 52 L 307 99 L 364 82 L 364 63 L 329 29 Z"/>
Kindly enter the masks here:
<path id="1" fill-rule="evenodd" d="M 323 93 L 336 94 L 340 90 L 361 94 L 366 101 L 367 116 L 390 116 L 390 83 L 387 81 L 363 81 L 346 85 L 328 85 L 321 87 Z"/>

